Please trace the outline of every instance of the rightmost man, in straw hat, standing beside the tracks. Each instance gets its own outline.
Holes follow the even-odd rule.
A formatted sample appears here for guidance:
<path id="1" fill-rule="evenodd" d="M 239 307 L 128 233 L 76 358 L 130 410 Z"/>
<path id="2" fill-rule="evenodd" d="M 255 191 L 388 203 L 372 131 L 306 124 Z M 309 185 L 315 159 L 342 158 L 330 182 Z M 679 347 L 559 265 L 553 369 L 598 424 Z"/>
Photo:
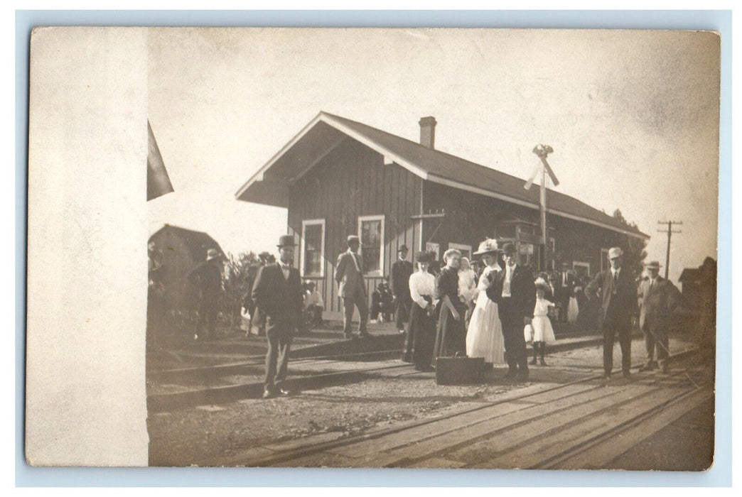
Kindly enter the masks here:
<path id="1" fill-rule="evenodd" d="M 680 305 L 680 292 L 660 276 L 660 263 L 656 260 L 645 266 L 649 278 L 643 280 L 637 294 L 639 302 L 639 327 L 644 332 L 647 362 L 640 371 L 649 371 L 657 365 L 667 372 L 669 356 L 668 332 L 672 326 L 672 315 Z M 657 363 L 654 349 L 657 348 Z"/>

